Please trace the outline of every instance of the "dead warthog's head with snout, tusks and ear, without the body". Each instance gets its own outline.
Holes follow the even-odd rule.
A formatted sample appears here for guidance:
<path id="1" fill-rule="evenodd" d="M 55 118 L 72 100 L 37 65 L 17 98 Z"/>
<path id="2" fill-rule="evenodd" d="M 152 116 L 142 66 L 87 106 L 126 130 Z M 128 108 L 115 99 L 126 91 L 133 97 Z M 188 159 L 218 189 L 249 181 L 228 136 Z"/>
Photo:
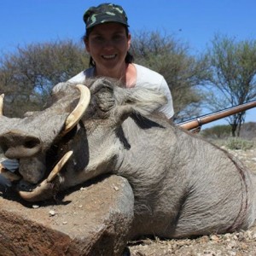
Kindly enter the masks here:
<path id="1" fill-rule="evenodd" d="M 20 182 L 15 188 L 26 201 L 48 199 L 60 186 L 65 189 L 99 172 L 107 172 L 114 153 L 98 164 L 101 150 L 106 150 L 102 148 L 102 138 L 106 140 L 109 136 L 110 140 L 111 134 L 119 132 L 115 127 L 132 112 L 153 112 L 166 101 L 164 96 L 150 91 L 151 100 L 140 102 L 137 90 L 114 86 L 108 79 L 90 80 L 86 84 L 89 87 L 57 84 L 47 108 L 26 113 L 23 119 L 1 115 L 0 146 L 7 158 L 19 160 Z M 114 96 L 114 90 L 125 93 Z M 0 100 L 3 113 L 3 96 Z M 88 168 L 90 174 L 81 174 Z"/>

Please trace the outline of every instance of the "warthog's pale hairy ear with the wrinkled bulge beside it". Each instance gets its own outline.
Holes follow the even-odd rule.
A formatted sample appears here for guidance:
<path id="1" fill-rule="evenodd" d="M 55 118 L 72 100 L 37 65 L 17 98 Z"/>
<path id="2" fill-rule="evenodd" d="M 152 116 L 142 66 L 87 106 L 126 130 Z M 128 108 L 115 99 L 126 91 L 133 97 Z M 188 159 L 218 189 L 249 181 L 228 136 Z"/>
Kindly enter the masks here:
<path id="1" fill-rule="evenodd" d="M 96 79 L 90 85 L 90 92 L 96 96 L 97 108 L 114 119 L 113 124 L 122 123 L 131 113 L 143 116 L 153 113 L 166 103 L 166 96 L 159 91 L 143 88 L 120 87 L 118 81 Z M 110 111 L 111 110 L 111 111 Z"/>

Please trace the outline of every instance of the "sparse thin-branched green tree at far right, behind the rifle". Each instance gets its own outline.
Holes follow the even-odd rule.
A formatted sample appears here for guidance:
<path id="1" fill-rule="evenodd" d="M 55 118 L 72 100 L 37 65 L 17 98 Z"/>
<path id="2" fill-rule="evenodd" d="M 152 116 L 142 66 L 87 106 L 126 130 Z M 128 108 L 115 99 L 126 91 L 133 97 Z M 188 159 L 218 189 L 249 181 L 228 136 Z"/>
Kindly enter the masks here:
<path id="1" fill-rule="evenodd" d="M 208 108 L 219 110 L 249 102 L 256 97 L 256 41 L 216 35 L 207 53 L 212 77 L 207 85 Z M 233 137 L 239 137 L 246 113 L 227 118 Z"/>

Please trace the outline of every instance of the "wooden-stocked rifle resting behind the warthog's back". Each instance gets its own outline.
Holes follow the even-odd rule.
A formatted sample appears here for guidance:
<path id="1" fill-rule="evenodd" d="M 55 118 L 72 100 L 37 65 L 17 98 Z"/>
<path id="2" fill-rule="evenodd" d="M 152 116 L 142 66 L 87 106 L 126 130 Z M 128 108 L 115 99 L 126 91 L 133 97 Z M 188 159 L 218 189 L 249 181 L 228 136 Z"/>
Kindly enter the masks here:
<path id="1" fill-rule="evenodd" d="M 241 105 L 237 105 L 235 107 L 225 108 L 224 110 L 219 110 L 213 113 L 207 113 L 205 115 L 201 115 L 195 119 L 189 119 L 182 123 L 177 124 L 178 126 L 182 127 L 184 130 L 192 130 L 192 129 L 201 129 L 201 125 L 208 124 L 212 121 L 216 121 L 218 119 L 223 119 L 227 116 L 230 116 L 235 113 L 243 112 L 247 109 L 255 108 L 256 101 L 243 103 Z"/>

